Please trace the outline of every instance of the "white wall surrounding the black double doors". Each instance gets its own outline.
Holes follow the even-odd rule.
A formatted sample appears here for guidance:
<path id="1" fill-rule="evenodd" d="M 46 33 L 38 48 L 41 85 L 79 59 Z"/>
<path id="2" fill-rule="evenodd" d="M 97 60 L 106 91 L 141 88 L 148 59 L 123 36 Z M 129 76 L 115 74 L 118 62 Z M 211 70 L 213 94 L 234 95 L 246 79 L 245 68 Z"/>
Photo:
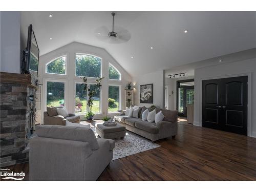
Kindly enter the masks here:
<path id="1" fill-rule="evenodd" d="M 195 70 L 194 124 L 202 125 L 202 80 L 248 75 L 248 136 L 256 137 L 256 58 Z"/>

